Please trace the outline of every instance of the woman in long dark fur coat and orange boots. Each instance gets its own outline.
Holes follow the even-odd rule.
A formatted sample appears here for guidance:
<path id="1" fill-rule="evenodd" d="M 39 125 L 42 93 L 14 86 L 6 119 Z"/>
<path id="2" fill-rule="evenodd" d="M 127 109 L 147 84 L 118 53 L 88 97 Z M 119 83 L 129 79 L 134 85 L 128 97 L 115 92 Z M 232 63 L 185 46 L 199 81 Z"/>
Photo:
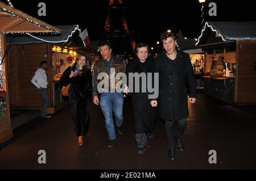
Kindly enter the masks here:
<path id="1" fill-rule="evenodd" d="M 89 58 L 79 54 L 73 66 L 69 66 L 60 78 L 60 85 L 68 86 L 69 106 L 73 118 L 73 129 L 78 138 L 78 145 L 84 145 L 84 136 L 88 130 L 90 114 L 89 100 L 92 90 L 92 74 Z"/>

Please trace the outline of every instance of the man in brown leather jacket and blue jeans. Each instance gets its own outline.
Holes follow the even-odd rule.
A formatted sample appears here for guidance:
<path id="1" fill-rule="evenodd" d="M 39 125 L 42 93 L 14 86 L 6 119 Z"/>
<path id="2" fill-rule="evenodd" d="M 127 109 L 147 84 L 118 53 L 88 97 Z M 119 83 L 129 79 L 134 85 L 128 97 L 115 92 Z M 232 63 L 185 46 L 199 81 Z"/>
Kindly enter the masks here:
<path id="1" fill-rule="evenodd" d="M 92 95 L 93 103 L 97 106 L 100 103 L 109 136 L 108 147 L 111 148 L 115 142 L 113 112 L 118 133 L 122 134 L 123 92 L 126 92 L 126 89 L 122 87 L 118 89 L 117 85 L 122 83 L 122 73 L 125 75 L 126 64 L 122 59 L 113 56 L 112 48 L 108 41 L 101 41 L 99 47 L 102 58 L 93 67 Z M 117 74 L 121 74 L 121 77 L 117 78 L 119 77 Z"/>

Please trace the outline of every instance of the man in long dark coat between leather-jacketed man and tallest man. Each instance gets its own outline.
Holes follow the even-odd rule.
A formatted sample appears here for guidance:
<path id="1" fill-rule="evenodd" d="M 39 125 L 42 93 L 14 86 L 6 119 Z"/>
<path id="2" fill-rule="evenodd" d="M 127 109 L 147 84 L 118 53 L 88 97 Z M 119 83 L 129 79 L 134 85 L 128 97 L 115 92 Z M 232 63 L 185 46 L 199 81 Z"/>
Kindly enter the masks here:
<path id="1" fill-rule="evenodd" d="M 158 108 L 153 108 L 150 105 L 150 99 L 148 99 L 148 91 L 143 91 L 147 87 L 147 73 L 154 71 L 153 59 L 148 57 L 148 45 L 144 43 L 139 43 L 135 47 L 137 57 L 134 61 L 129 62 L 126 67 L 126 75 L 129 78 L 129 73 L 138 73 L 140 75 L 144 74 L 144 78 L 139 80 L 139 84 L 133 85 L 133 92 L 130 93 L 131 101 L 133 104 L 133 118 L 134 118 L 134 129 L 135 129 L 135 139 L 137 141 L 137 152 L 138 154 L 144 153 L 144 147 L 147 145 L 147 138 L 152 138 L 152 129 L 154 128 Z M 137 77 L 138 78 L 138 77 Z M 153 79 L 153 78 L 152 78 Z M 152 81 L 152 80 L 151 80 Z M 127 81 L 128 87 L 129 79 Z M 138 86 L 138 87 L 136 87 Z M 139 91 L 135 90 L 138 89 Z"/>

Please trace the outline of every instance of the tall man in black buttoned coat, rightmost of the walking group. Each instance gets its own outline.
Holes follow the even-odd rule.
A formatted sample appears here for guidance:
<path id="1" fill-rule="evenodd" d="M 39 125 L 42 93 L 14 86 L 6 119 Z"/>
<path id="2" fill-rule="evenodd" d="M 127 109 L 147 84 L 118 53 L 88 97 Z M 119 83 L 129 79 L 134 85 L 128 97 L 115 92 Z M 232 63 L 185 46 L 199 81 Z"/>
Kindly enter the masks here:
<path id="1" fill-rule="evenodd" d="M 159 99 L 152 100 L 151 106 L 156 107 L 159 102 L 159 115 L 165 120 L 167 143 L 170 148 L 168 157 L 174 160 L 175 141 L 178 149 L 184 150 L 181 136 L 189 115 L 187 85 L 189 102 L 193 104 L 197 98 L 196 79 L 188 54 L 176 48 L 175 34 L 166 31 L 160 39 L 165 52 L 155 60 L 155 72 L 159 73 Z"/>

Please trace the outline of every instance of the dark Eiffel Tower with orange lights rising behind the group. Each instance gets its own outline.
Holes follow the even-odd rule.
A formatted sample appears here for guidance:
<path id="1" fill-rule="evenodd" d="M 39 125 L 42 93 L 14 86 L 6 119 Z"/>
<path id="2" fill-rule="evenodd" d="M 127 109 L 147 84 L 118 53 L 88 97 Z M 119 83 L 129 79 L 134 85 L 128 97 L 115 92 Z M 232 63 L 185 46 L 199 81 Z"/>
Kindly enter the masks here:
<path id="1" fill-rule="evenodd" d="M 133 55 L 135 42 L 131 37 L 131 31 L 125 18 L 125 7 L 122 0 L 110 0 L 109 5 L 102 38 L 112 43 L 114 54 L 123 57 Z"/>

